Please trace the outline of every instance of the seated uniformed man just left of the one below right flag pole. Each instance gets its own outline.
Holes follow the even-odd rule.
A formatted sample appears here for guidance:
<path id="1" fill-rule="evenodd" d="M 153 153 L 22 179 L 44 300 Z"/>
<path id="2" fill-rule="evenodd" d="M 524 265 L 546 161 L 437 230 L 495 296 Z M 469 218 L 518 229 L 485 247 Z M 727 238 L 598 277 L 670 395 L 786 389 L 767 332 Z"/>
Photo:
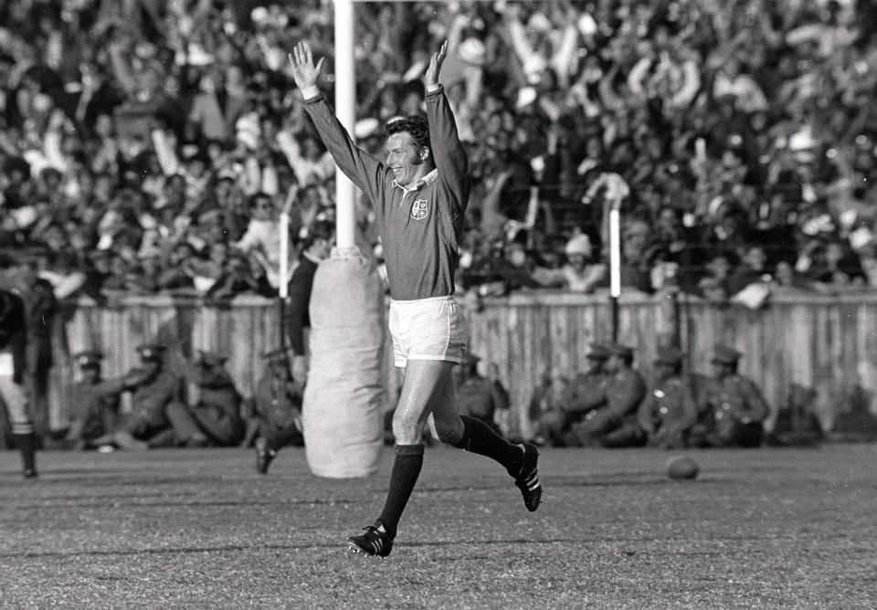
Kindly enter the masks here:
<path id="1" fill-rule="evenodd" d="M 540 435 L 546 443 L 554 447 L 576 445 L 576 438 L 570 438 L 570 428 L 581 422 L 598 406 L 606 405 L 607 375 L 603 365 L 609 357 L 608 347 L 603 343 L 592 343 L 586 353 L 586 368 L 577 373 L 566 386 L 562 400 L 548 405 L 540 418 Z"/>

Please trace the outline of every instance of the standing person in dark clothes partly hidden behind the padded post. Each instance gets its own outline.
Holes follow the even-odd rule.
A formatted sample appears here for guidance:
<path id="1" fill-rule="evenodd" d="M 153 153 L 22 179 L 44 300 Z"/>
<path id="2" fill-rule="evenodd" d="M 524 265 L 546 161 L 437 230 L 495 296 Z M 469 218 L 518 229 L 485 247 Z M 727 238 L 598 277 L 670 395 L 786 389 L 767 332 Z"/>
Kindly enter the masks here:
<path id="1" fill-rule="evenodd" d="M 300 381 L 308 378 L 305 357 L 304 329 L 311 328 L 311 303 L 313 276 L 320 261 L 329 257 L 332 250 L 333 226 L 320 221 L 314 223 L 308 237 L 302 243 L 301 261 L 290 279 L 290 306 L 286 316 L 286 333 L 292 349 L 292 376 Z"/>

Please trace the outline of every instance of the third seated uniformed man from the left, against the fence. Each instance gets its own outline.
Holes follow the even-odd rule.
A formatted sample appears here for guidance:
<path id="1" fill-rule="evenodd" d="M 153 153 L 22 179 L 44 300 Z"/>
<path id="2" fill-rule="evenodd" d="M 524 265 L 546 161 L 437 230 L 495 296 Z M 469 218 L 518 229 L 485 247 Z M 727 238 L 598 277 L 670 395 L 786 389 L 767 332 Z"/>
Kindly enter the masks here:
<path id="1" fill-rule="evenodd" d="M 185 381 L 197 387 L 197 401 L 189 404 L 189 413 L 195 418 L 211 445 L 237 445 L 244 436 L 244 422 L 240 417 L 240 394 L 228 373 L 226 356 L 198 350 L 191 363 L 185 363 Z"/>

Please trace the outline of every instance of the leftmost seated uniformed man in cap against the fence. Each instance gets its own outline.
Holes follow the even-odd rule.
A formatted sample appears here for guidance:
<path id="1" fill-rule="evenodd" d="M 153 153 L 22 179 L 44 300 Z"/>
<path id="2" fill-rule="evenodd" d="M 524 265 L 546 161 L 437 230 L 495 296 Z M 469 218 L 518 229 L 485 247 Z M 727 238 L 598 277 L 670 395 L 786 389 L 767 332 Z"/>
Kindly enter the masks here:
<path id="1" fill-rule="evenodd" d="M 119 414 L 119 395 L 107 392 L 100 378 L 100 352 L 79 352 L 73 361 L 79 366 L 82 379 L 69 387 L 70 427 L 64 437 L 67 447 L 97 447 L 95 440 L 113 430 Z"/>

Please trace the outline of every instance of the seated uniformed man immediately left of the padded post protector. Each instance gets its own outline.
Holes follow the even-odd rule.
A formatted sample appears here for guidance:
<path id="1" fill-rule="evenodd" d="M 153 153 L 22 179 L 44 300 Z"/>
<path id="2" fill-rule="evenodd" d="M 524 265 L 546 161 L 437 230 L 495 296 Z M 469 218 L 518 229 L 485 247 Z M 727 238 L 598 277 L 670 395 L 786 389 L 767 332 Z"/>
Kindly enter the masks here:
<path id="1" fill-rule="evenodd" d="M 265 474 L 280 447 L 301 447 L 304 436 L 301 427 L 302 388 L 292 379 L 286 352 L 274 350 L 262 357 L 269 365 L 256 386 L 253 412 L 259 420 L 256 469 Z"/>

